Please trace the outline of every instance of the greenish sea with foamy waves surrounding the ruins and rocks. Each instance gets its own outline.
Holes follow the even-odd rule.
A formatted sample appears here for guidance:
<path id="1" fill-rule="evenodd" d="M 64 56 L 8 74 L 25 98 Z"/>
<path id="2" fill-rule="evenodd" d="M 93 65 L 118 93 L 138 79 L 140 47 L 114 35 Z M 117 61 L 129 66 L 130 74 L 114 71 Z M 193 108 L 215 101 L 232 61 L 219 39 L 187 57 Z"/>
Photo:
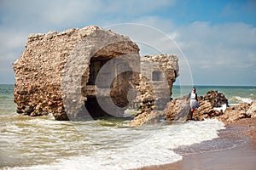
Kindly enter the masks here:
<path id="1" fill-rule="evenodd" d="M 16 113 L 14 85 L 0 85 L 0 169 L 138 169 L 180 161 L 183 154 L 225 150 L 239 142 L 218 140 L 224 123 L 165 122 L 130 127 L 127 118 L 55 121 Z M 229 105 L 256 99 L 256 87 L 195 86 L 198 95 L 218 90 Z M 172 98 L 191 87 L 173 87 Z M 217 140 L 216 140 L 217 139 Z M 197 147 L 195 144 L 200 144 Z M 189 149 L 192 148 L 193 150 Z M 184 149 L 185 148 L 185 149 Z"/>

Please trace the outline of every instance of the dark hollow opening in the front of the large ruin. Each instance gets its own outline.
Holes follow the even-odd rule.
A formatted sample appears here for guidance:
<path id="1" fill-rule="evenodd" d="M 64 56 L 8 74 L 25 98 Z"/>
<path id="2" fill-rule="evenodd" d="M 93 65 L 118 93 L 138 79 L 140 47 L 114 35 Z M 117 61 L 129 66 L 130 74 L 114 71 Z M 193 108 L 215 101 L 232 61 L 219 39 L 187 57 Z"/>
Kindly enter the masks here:
<path id="1" fill-rule="evenodd" d="M 112 60 L 109 61 L 110 59 Z M 129 61 L 113 59 L 113 56 L 91 58 L 88 82 L 83 89 L 84 96 L 87 98 L 84 106 L 90 116 L 97 119 L 122 115 L 131 99 L 135 98 L 130 91 L 131 82 L 135 82 L 134 74 Z M 96 94 L 96 88 L 99 89 L 99 94 Z"/>

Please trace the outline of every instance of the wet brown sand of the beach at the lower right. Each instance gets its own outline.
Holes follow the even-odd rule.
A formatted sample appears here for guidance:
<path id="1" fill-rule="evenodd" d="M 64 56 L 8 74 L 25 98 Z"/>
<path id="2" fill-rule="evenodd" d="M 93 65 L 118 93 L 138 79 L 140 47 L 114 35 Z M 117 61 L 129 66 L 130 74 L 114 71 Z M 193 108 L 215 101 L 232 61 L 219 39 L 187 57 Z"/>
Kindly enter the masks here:
<path id="1" fill-rule="evenodd" d="M 255 170 L 256 169 L 256 119 L 246 118 L 226 125 L 219 137 L 234 140 L 236 145 L 223 150 L 182 154 L 183 160 L 172 164 L 150 166 L 141 170 Z M 230 131 L 229 131 L 230 130 Z M 231 132 L 231 133 L 230 133 Z M 192 146 L 195 147 L 195 146 Z M 200 147 L 197 144 L 196 147 Z M 221 147 L 220 147 L 221 148 Z"/>

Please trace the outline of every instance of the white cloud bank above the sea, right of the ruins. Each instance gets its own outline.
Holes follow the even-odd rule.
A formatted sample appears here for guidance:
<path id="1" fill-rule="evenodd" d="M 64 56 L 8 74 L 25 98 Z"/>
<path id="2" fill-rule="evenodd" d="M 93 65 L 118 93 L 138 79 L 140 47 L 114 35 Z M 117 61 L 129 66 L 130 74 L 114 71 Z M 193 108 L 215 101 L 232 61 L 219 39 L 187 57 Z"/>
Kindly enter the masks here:
<path id="1" fill-rule="evenodd" d="M 189 61 L 195 83 L 256 84 L 256 77 L 253 74 L 256 65 L 255 27 L 243 23 L 212 25 L 211 22 L 201 21 L 187 26 L 174 26 L 171 20 L 163 20 L 155 16 L 142 17 L 135 22 L 160 29 L 177 42 L 178 48 L 185 54 L 184 59 Z M 132 28 L 122 27 L 117 31 L 123 31 L 122 33 L 125 34 L 131 30 Z M 171 51 L 171 53 L 182 55 L 172 49 L 170 42 L 165 41 L 166 37 L 163 35 L 155 32 L 153 34 L 147 30 L 132 32 L 131 37 L 150 42 L 151 45 L 153 44 L 152 48 L 160 49 L 161 53 Z M 150 50 L 146 50 L 146 54 L 148 52 Z M 185 64 L 186 62 L 181 59 L 180 65 Z M 242 77 L 243 82 L 237 77 Z M 205 82 L 206 79 L 208 79 L 207 82 Z"/>

